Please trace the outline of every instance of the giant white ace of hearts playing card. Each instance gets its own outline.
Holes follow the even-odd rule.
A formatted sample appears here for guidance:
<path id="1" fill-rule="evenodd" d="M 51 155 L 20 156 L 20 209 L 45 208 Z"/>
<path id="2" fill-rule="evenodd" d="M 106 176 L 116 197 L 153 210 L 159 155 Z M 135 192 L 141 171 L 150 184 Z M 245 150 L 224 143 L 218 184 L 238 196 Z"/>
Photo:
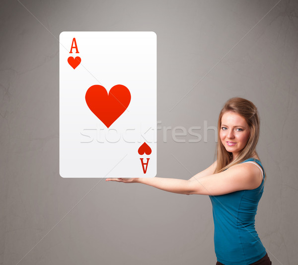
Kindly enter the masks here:
<path id="1" fill-rule="evenodd" d="M 156 123 L 154 32 L 60 34 L 61 177 L 155 177 Z"/>

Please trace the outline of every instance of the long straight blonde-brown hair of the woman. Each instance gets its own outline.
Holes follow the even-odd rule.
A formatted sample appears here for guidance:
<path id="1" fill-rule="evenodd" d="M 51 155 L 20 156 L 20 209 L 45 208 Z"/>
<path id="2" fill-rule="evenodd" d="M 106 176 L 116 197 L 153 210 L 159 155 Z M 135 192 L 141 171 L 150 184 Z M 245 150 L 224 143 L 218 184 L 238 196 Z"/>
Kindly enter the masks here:
<path id="1" fill-rule="evenodd" d="M 232 161 L 232 153 L 226 151 L 224 145 L 221 141 L 220 130 L 222 125 L 222 117 L 226 111 L 233 111 L 243 118 L 245 118 L 249 129 L 249 138 L 246 146 L 239 152 L 236 159 Z M 218 120 L 218 144 L 217 144 L 217 167 L 214 173 L 220 173 L 228 169 L 231 166 L 239 164 L 248 158 L 252 158 L 255 155 L 258 156 L 256 152 L 256 145 L 259 140 L 260 134 L 260 119 L 257 107 L 249 100 L 241 97 L 232 97 L 227 100 L 221 110 L 219 120 Z M 265 172 L 264 172 L 265 174 Z M 265 174 L 266 177 L 266 174 Z"/>

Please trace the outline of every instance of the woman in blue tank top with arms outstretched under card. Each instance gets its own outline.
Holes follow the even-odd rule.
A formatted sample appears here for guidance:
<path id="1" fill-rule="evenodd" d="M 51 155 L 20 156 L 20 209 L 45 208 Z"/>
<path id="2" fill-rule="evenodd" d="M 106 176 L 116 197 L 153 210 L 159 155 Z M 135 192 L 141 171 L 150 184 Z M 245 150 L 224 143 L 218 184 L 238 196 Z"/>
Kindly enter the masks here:
<path id="1" fill-rule="evenodd" d="M 218 120 L 217 161 L 189 180 L 107 178 L 143 183 L 181 194 L 209 195 L 213 206 L 217 265 L 270 265 L 255 230 L 255 215 L 266 178 L 256 152 L 259 116 L 249 100 L 229 99 Z"/>

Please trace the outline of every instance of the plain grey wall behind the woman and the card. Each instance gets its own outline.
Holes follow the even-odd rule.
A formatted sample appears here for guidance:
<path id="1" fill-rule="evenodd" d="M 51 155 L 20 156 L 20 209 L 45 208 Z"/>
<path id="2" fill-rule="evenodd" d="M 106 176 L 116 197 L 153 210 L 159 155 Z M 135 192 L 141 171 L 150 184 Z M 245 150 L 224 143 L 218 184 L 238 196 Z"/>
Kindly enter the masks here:
<path id="1" fill-rule="evenodd" d="M 208 196 L 59 176 L 62 31 L 156 32 L 158 177 L 212 164 L 225 100 L 252 100 L 267 173 L 256 228 L 273 264 L 296 264 L 297 1 L 21 3 L 0 2 L 0 264 L 216 263 Z"/>

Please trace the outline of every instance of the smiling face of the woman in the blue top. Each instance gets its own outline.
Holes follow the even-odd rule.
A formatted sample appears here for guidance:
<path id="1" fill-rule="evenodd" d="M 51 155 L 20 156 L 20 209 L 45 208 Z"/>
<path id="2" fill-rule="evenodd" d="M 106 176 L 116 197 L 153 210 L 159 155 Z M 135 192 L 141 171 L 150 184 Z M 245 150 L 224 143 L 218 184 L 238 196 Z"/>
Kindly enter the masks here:
<path id="1" fill-rule="evenodd" d="M 233 154 L 233 160 L 245 147 L 249 132 L 249 126 L 244 117 L 233 111 L 224 112 L 220 137 L 226 151 Z"/>

